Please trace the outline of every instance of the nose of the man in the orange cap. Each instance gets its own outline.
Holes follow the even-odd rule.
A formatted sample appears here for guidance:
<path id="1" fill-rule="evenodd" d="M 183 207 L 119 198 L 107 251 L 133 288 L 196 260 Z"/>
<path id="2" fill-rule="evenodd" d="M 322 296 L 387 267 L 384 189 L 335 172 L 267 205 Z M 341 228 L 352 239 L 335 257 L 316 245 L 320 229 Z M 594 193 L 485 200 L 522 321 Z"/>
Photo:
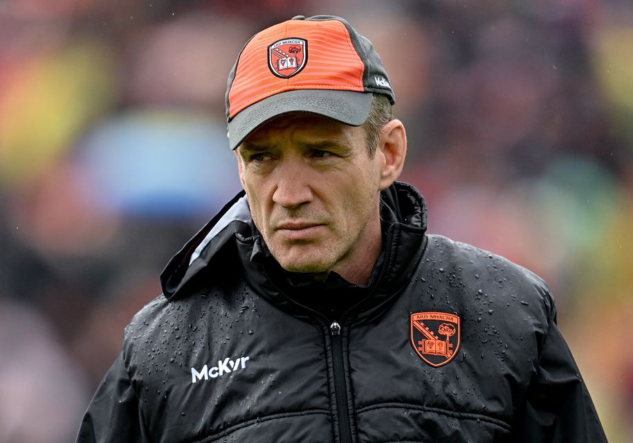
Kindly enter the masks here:
<path id="1" fill-rule="evenodd" d="M 313 199 L 309 186 L 310 168 L 302 159 L 284 159 L 275 168 L 276 188 L 273 201 L 287 209 L 297 208 Z"/>

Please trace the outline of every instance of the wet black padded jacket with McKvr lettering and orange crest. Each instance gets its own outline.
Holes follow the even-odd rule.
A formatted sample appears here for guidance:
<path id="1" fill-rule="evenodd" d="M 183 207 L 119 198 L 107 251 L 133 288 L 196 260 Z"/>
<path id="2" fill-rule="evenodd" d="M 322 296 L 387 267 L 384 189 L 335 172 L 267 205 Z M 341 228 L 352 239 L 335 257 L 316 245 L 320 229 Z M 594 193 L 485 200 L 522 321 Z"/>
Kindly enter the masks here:
<path id="1" fill-rule="evenodd" d="M 547 286 L 383 192 L 367 287 L 279 269 L 239 195 L 167 265 L 77 442 L 604 442 Z"/>

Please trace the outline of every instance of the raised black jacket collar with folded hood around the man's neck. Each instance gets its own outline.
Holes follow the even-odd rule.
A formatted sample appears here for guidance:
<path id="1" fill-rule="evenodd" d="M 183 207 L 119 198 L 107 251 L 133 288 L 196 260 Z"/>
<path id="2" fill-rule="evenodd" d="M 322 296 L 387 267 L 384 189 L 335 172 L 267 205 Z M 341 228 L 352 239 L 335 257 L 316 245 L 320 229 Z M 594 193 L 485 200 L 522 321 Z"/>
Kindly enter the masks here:
<path id="1" fill-rule="evenodd" d="M 201 274 L 212 278 L 218 273 L 222 278 L 228 261 L 243 269 L 244 278 L 263 296 L 282 305 L 293 305 L 292 297 L 298 293 L 351 291 L 359 299 L 369 293 L 377 299 L 395 293 L 410 280 L 423 253 L 426 208 L 423 197 L 407 183 L 394 183 L 380 197 L 383 252 L 367 287 L 350 284 L 334 273 L 318 283 L 285 273 L 268 253 L 241 191 L 169 261 L 160 275 L 163 293 L 169 299 L 183 296 Z"/>

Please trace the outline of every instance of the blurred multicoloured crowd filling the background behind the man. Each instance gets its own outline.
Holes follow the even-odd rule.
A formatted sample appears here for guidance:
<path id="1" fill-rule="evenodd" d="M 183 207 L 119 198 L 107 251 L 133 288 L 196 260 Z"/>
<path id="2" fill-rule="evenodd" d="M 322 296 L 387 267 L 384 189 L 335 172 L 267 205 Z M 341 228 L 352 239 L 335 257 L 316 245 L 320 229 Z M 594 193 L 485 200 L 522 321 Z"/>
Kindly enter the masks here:
<path id="1" fill-rule="evenodd" d="M 0 442 L 73 441 L 163 266 L 240 189 L 237 53 L 297 14 L 372 39 L 430 232 L 549 282 L 633 442 L 630 0 L 0 0 Z"/>

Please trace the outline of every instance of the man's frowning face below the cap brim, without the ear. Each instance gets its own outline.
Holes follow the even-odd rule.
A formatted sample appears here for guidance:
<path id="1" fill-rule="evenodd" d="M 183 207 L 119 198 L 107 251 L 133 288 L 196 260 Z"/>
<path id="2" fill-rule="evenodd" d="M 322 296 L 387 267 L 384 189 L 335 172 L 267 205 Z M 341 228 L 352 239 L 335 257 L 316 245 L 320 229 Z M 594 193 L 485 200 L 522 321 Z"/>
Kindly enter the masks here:
<path id="1" fill-rule="evenodd" d="M 255 226 L 284 269 L 345 274 L 375 259 L 365 251 L 380 242 L 384 157 L 369 158 L 363 127 L 291 114 L 257 129 L 237 158 Z"/>

